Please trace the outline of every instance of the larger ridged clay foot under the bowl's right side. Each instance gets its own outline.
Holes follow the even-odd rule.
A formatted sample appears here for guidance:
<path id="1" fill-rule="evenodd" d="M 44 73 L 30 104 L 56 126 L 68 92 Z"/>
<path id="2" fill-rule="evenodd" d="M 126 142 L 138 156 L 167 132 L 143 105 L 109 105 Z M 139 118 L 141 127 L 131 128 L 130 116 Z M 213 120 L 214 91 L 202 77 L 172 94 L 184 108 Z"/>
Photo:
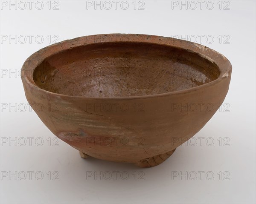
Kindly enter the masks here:
<path id="1" fill-rule="evenodd" d="M 142 168 L 155 167 L 158 164 L 161 164 L 164 161 L 166 161 L 166 159 L 169 158 L 173 154 L 173 152 L 175 152 L 175 149 L 173 149 L 172 151 L 160 154 L 160 155 L 142 159 L 142 160 L 138 161 L 136 163 L 136 165 L 138 167 L 142 167 Z"/>

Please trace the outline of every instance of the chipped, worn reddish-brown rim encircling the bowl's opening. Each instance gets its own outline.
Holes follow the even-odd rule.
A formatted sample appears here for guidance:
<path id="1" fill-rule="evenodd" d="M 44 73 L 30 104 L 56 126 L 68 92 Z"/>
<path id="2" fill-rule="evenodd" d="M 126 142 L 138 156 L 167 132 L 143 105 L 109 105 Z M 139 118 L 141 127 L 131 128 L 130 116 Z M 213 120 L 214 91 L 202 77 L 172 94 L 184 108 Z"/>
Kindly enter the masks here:
<path id="1" fill-rule="evenodd" d="M 107 39 L 106 39 L 107 38 Z M 172 92 L 164 92 L 160 94 L 152 95 L 134 95 L 134 96 L 118 96 L 118 97 L 87 97 L 87 96 L 71 96 L 64 95 L 55 92 L 50 92 L 45 89 L 41 89 L 33 79 L 33 73 L 35 68 L 39 66 L 47 57 L 55 55 L 57 53 L 63 52 L 64 50 L 73 49 L 78 46 L 85 46 L 88 44 L 96 43 L 109 43 L 109 42 L 134 42 L 134 43 L 154 43 L 163 46 L 171 46 L 179 49 L 185 49 L 187 52 L 197 53 L 201 57 L 209 60 L 211 63 L 217 65 L 220 75 L 217 79 L 212 80 L 208 83 L 191 87 L 189 89 L 182 89 Z M 30 69 L 29 69 L 30 68 Z M 32 74 L 28 74 L 27 70 L 32 70 Z M 35 92 L 41 92 L 42 94 L 56 96 L 58 98 L 86 98 L 86 99 L 136 99 L 136 98 L 151 98 L 151 97 L 161 97 L 166 95 L 178 95 L 184 94 L 187 92 L 194 92 L 198 89 L 202 89 L 208 86 L 214 86 L 215 84 L 221 82 L 221 80 L 231 78 L 232 65 L 230 61 L 221 53 L 216 52 L 213 49 L 210 49 L 207 46 L 190 42 L 187 40 L 180 40 L 172 37 L 163 37 L 158 35 L 149 35 L 149 34 L 95 34 L 95 35 L 86 35 L 82 37 L 76 37 L 71 40 L 64 40 L 59 43 L 55 43 L 44 47 L 37 52 L 30 55 L 26 61 L 23 63 L 21 68 L 21 73 L 24 73 L 24 76 L 21 77 L 23 85 L 26 84 L 33 89 Z"/>

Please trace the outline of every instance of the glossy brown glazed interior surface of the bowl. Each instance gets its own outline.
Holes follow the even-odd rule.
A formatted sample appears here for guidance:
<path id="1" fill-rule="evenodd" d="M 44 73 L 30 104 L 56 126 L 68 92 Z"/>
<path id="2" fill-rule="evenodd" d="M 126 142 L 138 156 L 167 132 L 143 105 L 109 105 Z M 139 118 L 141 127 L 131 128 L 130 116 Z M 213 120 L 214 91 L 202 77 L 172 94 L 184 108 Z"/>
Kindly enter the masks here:
<path id="1" fill-rule="evenodd" d="M 35 68 L 49 92 L 84 97 L 154 95 L 215 80 L 218 66 L 197 53 L 155 43 L 95 43 L 59 52 Z"/>

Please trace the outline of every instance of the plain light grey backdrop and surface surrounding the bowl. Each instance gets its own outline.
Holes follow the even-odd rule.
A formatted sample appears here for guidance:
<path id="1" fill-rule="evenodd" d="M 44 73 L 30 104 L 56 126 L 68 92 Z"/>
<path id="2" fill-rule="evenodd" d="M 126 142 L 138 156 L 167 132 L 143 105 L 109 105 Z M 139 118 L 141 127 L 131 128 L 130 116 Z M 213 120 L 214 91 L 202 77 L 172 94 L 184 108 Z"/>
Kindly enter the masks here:
<path id="1" fill-rule="evenodd" d="M 203 1 L 201 9 L 198 1 L 183 1 L 187 8 L 180 8 L 180 1 L 150 0 L 143 1 L 144 5 L 137 1 L 135 10 L 134 1 L 128 1 L 126 10 L 125 3 L 120 6 L 122 1 L 116 10 L 113 1 L 110 10 L 106 3 L 102 9 L 94 9 L 87 8 L 86 1 L 47 2 L 43 1 L 41 10 L 37 1 L 31 10 L 27 1 L 26 9 L 19 2 L 16 9 L 1 3 L 1 203 L 256 202 L 254 0 L 212 1 L 213 9 L 209 1 Z M 140 169 L 133 164 L 83 160 L 73 147 L 54 141 L 55 136 L 29 105 L 24 106 L 27 101 L 19 70 L 27 57 L 55 39 L 60 42 L 105 33 L 185 38 L 215 49 L 233 65 L 230 90 L 221 109 L 188 144 L 157 167 Z M 15 35 L 17 42 L 9 41 Z M 28 35 L 34 36 L 31 42 Z M 40 36 L 35 40 L 38 35 L 43 37 L 42 43 Z M 24 146 L 20 138 L 25 138 Z M 40 146 L 41 139 L 44 144 Z M 14 142 L 9 143 L 11 140 Z M 31 179 L 28 171 L 32 171 Z M 119 172 L 116 180 L 113 174 L 107 180 L 106 172 L 113 171 Z M 37 177 L 35 172 L 39 172 Z M 40 172 L 44 175 L 41 180 Z M 102 179 L 87 178 L 88 172 L 102 172 Z M 58 180 L 53 180 L 55 175 Z M 139 179 L 141 175 L 144 180 Z"/>

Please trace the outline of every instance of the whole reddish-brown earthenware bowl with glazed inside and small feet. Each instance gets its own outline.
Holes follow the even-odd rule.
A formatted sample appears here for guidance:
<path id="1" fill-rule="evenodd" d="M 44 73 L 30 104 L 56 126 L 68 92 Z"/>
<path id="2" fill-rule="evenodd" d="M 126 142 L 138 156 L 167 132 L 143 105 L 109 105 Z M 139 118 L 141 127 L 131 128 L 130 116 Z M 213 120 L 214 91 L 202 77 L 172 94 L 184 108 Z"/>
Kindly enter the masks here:
<path id="1" fill-rule="evenodd" d="M 214 115 L 231 70 L 226 57 L 197 43 L 100 34 L 35 52 L 22 81 L 39 118 L 81 157 L 153 167 Z"/>

